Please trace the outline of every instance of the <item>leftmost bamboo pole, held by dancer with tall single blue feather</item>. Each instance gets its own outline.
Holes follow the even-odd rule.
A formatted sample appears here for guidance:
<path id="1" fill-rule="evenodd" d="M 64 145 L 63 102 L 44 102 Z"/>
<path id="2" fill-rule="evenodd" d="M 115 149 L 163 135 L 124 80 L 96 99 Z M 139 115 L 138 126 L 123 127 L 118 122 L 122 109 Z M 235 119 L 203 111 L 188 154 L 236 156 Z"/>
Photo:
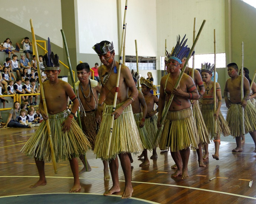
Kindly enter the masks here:
<path id="1" fill-rule="evenodd" d="M 46 99 L 45 99 L 45 92 L 43 90 L 43 82 L 42 82 L 42 76 L 41 76 L 41 71 L 40 71 L 40 66 L 39 66 L 39 57 L 38 57 L 38 51 L 37 51 L 37 46 L 36 46 L 36 36 L 35 36 L 35 31 L 34 31 L 33 20 L 32 19 L 30 19 L 30 27 L 31 27 L 33 45 L 34 45 L 34 50 L 35 50 L 35 55 L 36 55 L 36 63 L 37 63 L 37 67 L 39 68 L 38 78 L 39 78 L 39 81 L 40 81 L 40 84 L 41 84 L 41 86 L 40 86 L 40 94 L 41 94 L 42 101 L 43 101 L 44 111 L 45 111 L 46 115 L 48 115 Z M 47 126 L 48 139 L 49 139 L 50 150 L 51 150 L 51 154 L 52 154 L 53 168 L 54 168 L 55 174 L 57 174 L 58 170 L 57 170 L 56 158 L 55 158 L 55 153 L 54 153 L 54 148 L 53 148 L 52 133 L 51 133 L 49 119 L 47 119 L 45 122 L 46 122 L 46 126 Z"/>

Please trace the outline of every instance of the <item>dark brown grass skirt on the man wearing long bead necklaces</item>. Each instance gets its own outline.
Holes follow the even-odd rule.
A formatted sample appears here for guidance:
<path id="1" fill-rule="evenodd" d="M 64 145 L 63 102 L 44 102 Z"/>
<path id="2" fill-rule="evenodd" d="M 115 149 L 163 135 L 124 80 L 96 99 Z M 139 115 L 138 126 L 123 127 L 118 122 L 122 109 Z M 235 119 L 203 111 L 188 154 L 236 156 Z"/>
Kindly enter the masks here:
<path id="1" fill-rule="evenodd" d="M 99 129 L 98 124 L 95 121 L 95 112 L 86 113 L 86 116 L 85 114 L 82 114 L 82 112 L 80 112 L 80 117 L 82 123 L 82 130 L 88 136 L 87 139 L 89 140 L 93 150 L 95 146 L 97 132 Z"/>

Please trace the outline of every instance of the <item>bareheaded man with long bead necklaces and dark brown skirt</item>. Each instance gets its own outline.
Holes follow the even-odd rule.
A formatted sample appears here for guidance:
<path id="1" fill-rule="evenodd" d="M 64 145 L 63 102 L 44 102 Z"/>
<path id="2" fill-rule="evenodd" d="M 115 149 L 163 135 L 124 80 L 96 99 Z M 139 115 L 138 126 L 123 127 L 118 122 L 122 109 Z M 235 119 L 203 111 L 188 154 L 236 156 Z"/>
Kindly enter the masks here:
<path id="1" fill-rule="evenodd" d="M 76 82 L 76 90 L 80 105 L 80 117 L 82 129 L 88 135 L 89 142 L 91 143 L 92 150 L 94 149 L 96 136 L 101 123 L 101 117 L 97 115 L 97 106 L 101 86 L 96 80 L 90 79 L 90 66 L 88 63 L 80 63 L 76 66 L 78 82 Z M 85 155 L 79 157 L 83 162 L 83 168 L 79 171 L 82 174 L 86 171 L 85 168 Z M 88 171 L 91 167 L 87 162 Z M 108 161 L 103 161 L 104 164 L 104 180 L 110 179 L 108 172 Z"/>

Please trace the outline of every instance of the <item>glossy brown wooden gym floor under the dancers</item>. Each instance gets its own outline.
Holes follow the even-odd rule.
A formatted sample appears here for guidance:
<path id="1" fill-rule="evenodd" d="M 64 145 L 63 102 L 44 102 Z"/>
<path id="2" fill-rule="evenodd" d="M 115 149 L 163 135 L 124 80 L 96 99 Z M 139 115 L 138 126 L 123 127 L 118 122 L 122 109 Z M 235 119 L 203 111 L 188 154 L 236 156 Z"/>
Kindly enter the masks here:
<path id="1" fill-rule="evenodd" d="M 0 196 L 42 193 L 66 193 L 72 187 L 73 178 L 69 162 L 57 164 L 58 174 L 53 165 L 46 163 L 47 185 L 30 189 L 29 185 L 38 179 L 35 162 L 20 152 L 23 144 L 37 127 L 5 128 L 0 130 Z M 254 144 L 243 144 L 242 153 L 232 153 L 235 143 L 221 142 L 220 160 L 211 156 L 205 161 L 206 167 L 199 168 L 196 151 L 191 151 L 189 160 L 190 178 L 171 178 L 174 164 L 170 152 L 157 149 L 158 158 L 150 160 L 150 166 L 139 167 L 141 163 L 134 155 L 132 163 L 132 197 L 156 203 L 256 203 L 256 153 Z M 214 145 L 209 145 L 210 155 Z M 204 153 L 204 152 L 203 152 Z M 151 153 L 148 152 L 149 156 Z M 80 193 L 103 194 L 111 187 L 112 181 L 103 180 L 103 165 L 90 151 L 87 154 L 91 172 L 80 175 Z M 82 165 L 79 161 L 79 165 Z M 79 167 L 81 168 L 81 167 Z M 210 181 L 211 178 L 214 178 Z M 121 195 L 124 190 L 124 175 L 119 165 Z M 121 199 L 121 198 L 120 198 Z"/>

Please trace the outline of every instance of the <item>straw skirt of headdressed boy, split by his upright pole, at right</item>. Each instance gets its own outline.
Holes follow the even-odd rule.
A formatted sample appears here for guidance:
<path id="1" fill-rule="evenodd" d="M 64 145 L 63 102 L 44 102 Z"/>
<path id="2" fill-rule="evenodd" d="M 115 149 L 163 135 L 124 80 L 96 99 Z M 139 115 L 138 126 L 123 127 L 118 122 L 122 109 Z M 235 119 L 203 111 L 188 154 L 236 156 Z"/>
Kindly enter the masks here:
<path id="1" fill-rule="evenodd" d="M 220 134 L 222 134 L 224 137 L 231 135 L 229 124 L 224 119 L 221 111 L 219 112 L 219 117 L 217 118 L 217 134 L 214 133 L 214 103 L 203 104 L 201 107 L 201 112 L 211 139 L 216 139 L 216 136 L 220 136 Z"/>

